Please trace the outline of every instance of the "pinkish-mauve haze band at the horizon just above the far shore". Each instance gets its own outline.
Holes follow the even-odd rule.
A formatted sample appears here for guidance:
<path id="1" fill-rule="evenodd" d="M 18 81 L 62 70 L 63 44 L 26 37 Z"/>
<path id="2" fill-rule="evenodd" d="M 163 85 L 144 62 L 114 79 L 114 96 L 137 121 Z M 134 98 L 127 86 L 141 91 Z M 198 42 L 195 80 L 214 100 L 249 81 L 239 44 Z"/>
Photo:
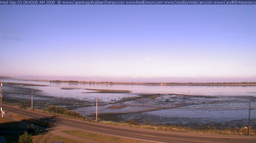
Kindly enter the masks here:
<path id="1" fill-rule="evenodd" d="M 4 76 L 4 75 L 1 75 Z M 8 75 L 5 75 L 8 76 Z M 13 79 L 77 80 L 97 82 L 256 82 L 255 77 L 76 77 L 76 76 L 13 76 Z"/>

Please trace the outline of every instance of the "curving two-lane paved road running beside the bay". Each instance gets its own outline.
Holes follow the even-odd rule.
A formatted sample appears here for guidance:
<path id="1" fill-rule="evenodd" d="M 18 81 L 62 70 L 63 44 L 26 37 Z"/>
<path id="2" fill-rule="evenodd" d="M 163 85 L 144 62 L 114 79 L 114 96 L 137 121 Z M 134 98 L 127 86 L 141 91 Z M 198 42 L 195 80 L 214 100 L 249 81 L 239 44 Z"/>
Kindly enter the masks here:
<path id="1" fill-rule="evenodd" d="M 22 116 L 53 122 L 55 124 L 66 125 L 83 129 L 90 132 L 98 132 L 117 137 L 148 140 L 166 143 L 255 143 L 253 136 L 233 136 L 233 135 L 209 135 L 199 133 L 181 133 L 155 131 L 139 128 L 131 128 L 116 125 L 97 124 L 85 122 L 65 117 L 55 117 L 48 114 L 15 108 L 3 105 L 5 111 L 20 114 Z"/>

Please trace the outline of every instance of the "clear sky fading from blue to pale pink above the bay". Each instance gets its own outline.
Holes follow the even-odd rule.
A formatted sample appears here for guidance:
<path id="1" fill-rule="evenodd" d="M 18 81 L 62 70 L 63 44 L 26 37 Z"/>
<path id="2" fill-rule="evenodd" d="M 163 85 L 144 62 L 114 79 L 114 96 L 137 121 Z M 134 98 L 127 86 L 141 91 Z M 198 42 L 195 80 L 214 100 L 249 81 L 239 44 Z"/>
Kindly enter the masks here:
<path id="1" fill-rule="evenodd" d="M 255 81 L 255 47 L 255 5 L 0 5 L 3 76 Z"/>

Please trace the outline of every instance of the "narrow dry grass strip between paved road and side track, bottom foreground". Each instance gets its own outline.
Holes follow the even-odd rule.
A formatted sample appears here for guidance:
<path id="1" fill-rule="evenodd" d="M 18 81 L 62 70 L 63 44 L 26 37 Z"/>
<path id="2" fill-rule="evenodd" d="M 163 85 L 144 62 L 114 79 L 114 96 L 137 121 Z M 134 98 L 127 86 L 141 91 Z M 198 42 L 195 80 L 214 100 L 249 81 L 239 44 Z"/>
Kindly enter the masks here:
<path id="1" fill-rule="evenodd" d="M 90 132 L 84 132 L 84 131 L 62 131 L 64 133 L 67 133 L 69 135 L 85 138 L 85 139 L 91 139 L 103 143 L 149 143 L 146 141 L 139 141 L 139 140 L 132 140 L 132 139 L 124 139 L 124 138 L 117 138 L 117 137 L 112 137 L 108 135 L 102 135 L 102 134 L 97 134 L 97 133 L 90 133 Z"/>

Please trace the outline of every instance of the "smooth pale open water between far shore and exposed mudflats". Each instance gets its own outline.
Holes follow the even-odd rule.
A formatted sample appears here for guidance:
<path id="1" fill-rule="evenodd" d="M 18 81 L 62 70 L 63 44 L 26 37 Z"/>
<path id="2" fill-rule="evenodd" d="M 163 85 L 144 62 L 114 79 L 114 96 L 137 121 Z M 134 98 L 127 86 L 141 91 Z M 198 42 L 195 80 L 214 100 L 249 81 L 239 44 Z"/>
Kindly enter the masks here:
<path id="1" fill-rule="evenodd" d="M 83 83 L 50 83 L 42 81 L 25 81 L 4 79 L 3 82 L 27 83 L 47 85 L 48 87 L 36 87 L 48 94 L 66 94 L 86 92 L 85 88 L 130 90 L 134 94 L 188 94 L 189 95 L 212 95 L 212 96 L 255 96 L 255 86 L 158 86 L 158 85 L 118 85 L 118 84 L 83 84 Z M 61 87 L 80 88 L 75 90 L 63 90 Z M 82 95 L 83 96 L 83 95 Z"/>

